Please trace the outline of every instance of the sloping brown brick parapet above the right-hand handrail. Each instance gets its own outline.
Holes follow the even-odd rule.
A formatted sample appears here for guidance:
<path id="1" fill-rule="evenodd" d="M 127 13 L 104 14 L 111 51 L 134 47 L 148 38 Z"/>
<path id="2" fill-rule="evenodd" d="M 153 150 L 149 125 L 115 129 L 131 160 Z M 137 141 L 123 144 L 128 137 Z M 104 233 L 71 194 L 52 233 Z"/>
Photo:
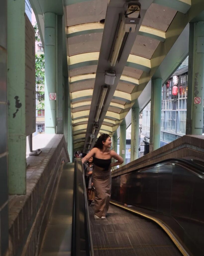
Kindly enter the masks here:
<path id="1" fill-rule="evenodd" d="M 116 177 L 169 158 L 204 159 L 204 136 L 182 136 L 179 139 L 130 162 L 129 164 L 113 170 L 112 177 Z"/>

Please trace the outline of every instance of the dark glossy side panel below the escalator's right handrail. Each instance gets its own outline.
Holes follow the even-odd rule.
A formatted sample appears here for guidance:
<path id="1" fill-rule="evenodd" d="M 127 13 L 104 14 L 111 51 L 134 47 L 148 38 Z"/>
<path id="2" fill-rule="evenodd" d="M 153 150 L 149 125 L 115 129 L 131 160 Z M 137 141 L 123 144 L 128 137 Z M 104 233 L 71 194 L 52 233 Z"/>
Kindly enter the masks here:
<path id="1" fill-rule="evenodd" d="M 156 215 L 189 254 L 202 255 L 204 175 L 194 165 L 168 159 L 113 177 L 111 199 Z"/>

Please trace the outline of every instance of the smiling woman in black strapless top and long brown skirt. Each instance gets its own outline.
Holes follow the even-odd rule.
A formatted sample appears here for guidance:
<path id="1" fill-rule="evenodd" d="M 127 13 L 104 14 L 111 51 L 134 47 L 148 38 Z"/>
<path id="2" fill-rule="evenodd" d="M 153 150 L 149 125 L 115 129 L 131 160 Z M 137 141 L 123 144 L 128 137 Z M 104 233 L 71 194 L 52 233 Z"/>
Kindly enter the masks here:
<path id="1" fill-rule="evenodd" d="M 123 163 L 123 158 L 110 150 L 111 138 L 108 134 L 98 137 L 94 148 L 82 158 L 85 163 L 93 157 L 92 182 L 95 187 L 95 215 L 94 218 L 106 218 L 111 195 L 111 167 Z M 111 164 L 111 158 L 117 162 Z"/>

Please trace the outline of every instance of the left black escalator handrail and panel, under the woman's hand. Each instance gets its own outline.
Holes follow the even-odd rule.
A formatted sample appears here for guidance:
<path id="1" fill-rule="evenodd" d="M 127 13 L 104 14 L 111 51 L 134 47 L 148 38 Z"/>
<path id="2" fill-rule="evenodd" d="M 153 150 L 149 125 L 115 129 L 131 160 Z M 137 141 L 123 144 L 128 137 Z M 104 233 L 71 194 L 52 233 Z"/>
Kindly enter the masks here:
<path id="1" fill-rule="evenodd" d="M 84 170 L 81 158 L 74 160 L 72 256 L 94 256 Z"/>

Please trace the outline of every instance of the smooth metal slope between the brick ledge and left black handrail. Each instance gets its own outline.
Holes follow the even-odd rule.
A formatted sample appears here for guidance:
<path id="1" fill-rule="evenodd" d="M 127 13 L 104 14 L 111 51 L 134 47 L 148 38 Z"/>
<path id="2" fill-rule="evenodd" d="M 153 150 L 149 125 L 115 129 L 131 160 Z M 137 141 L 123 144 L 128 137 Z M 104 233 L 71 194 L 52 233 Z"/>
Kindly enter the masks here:
<path id="1" fill-rule="evenodd" d="M 74 165 L 63 165 L 51 215 L 45 231 L 41 256 L 71 255 Z"/>

